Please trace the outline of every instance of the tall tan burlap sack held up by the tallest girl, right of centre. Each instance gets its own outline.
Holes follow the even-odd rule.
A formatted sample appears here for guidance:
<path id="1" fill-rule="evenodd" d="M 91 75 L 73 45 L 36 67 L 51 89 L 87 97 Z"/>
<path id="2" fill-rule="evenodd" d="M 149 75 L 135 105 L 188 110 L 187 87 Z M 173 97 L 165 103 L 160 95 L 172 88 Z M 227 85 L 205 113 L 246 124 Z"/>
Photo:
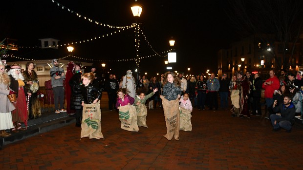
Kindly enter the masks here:
<path id="1" fill-rule="evenodd" d="M 162 106 L 164 110 L 164 117 L 166 123 L 167 133 L 164 135 L 168 140 L 179 140 L 180 131 L 180 113 L 179 113 L 179 100 L 168 101 L 162 97 Z"/>

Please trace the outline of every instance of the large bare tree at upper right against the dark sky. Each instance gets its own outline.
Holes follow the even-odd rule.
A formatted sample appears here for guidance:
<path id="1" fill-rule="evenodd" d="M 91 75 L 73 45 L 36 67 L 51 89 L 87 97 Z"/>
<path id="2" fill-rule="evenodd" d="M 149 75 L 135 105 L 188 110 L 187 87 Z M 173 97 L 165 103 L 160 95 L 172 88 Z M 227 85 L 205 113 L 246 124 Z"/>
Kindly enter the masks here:
<path id="1" fill-rule="evenodd" d="M 255 34 L 263 44 L 270 44 L 272 49 L 274 43 L 278 42 L 281 44 L 277 46 L 282 52 L 281 63 L 275 54 L 277 50 L 273 50 L 272 55 L 278 67 L 289 68 L 303 30 L 303 1 L 229 0 L 229 5 L 226 12 L 239 35 L 245 37 Z"/>

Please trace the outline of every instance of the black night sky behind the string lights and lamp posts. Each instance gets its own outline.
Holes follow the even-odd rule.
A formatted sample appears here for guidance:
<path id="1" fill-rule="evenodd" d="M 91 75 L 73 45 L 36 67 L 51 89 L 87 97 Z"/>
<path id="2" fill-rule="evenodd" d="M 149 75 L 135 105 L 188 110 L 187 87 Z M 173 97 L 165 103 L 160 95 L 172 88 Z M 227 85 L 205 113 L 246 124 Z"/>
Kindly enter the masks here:
<path id="1" fill-rule="evenodd" d="M 56 2 L 60 3 L 60 6 Z M 19 46 L 41 46 L 38 39 L 56 38 L 60 44 L 81 41 L 113 33 L 117 29 L 89 22 L 75 13 L 62 9 L 62 5 L 87 18 L 109 25 L 126 26 L 137 20 L 152 48 L 157 52 L 170 49 L 169 39 L 175 40 L 177 63 L 173 70 L 185 74 L 216 72 L 217 51 L 228 48 L 236 41 L 237 34 L 226 17 L 226 0 L 139 0 L 143 12 L 134 19 L 130 6 L 134 0 L 6 0 L 0 5 L 0 38 L 18 39 Z M 134 29 L 122 31 L 106 38 L 73 45 L 73 55 L 100 60 L 135 58 Z M 68 55 L 60 47 L 62 56 Z M 22 53 L 20 49 L 19 53 Z M 140 57 L 155 53 L 140 36 Z M 164 57 L 141 59 L 141 75 L 164 73 Z M 134 61 L 105 62 L 107 69 L 123 76 L 126 70 L 134 70 Z M 100 66 L 101 63 L 96 62 Z M 188 72 L 187 68 L 191 68 Z"/>

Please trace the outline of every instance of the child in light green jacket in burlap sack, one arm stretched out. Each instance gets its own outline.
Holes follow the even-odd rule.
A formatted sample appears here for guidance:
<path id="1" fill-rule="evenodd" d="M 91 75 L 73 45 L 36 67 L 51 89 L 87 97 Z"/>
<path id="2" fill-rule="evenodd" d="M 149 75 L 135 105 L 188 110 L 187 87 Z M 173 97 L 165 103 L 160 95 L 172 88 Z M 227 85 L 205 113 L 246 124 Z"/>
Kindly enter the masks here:
<path id="1" fill-rule="evenodd" d="M 153 89 L 153 92 L 151 92 L 148 95 L 145 95 L 145 89 L 141 89 L 136 97 L 135 97 L 135 102 L 133 105 L 136 107 L 137 111 L 137 123 L 138 126 L 141 127 L 148 127 L 146 125 L 146 116 L 147 116 L 147 109 L 145 107 L 145 102 L 147 99 L 149 99 L 153 94 L 155 94 L 158 91 L 158 88 Z"/>

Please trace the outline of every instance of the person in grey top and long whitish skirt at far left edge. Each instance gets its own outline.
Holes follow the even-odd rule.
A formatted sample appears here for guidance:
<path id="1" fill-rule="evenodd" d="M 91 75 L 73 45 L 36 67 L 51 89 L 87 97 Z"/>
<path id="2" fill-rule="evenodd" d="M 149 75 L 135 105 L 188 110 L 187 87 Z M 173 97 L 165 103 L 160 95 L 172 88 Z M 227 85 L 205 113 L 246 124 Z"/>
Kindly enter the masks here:
<path id="1" fill-rule="evenodd" d="M 0 137 L 7 137 L 11 134 L 5 130 L 14 128 L 12 111 L 15 106 L 9 101 L 8 94 L 16 94 L 9 89 L 10 78 L 5 70 L 5 60 L 0 60 Z"/>

